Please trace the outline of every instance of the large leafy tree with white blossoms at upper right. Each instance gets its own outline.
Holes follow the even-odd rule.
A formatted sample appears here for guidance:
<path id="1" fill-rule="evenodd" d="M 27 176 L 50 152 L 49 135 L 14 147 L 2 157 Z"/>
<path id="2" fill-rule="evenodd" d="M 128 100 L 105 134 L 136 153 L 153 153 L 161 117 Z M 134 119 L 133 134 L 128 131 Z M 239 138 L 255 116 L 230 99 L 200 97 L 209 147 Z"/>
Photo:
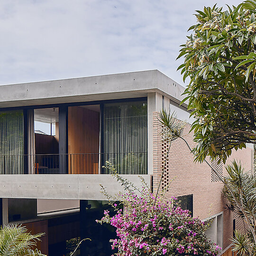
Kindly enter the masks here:
<path id="1" fill-rule="evenodd" d="M 225 163 L 233 148 L 256 144 L 256 1 L 196 12 L 178 56 L 183 80 L 190 78 L 184 101 L 196 119 L 193 153 Z"/>

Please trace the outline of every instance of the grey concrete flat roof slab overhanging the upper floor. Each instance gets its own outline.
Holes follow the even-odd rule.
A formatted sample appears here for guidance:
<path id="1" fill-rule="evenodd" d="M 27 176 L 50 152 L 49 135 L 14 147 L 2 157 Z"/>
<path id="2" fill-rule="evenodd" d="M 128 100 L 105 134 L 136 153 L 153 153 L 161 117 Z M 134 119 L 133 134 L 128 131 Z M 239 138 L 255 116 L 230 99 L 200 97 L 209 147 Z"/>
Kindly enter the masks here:
<path id="1" fill-rule="evenodd" d="M 158 92 L 179 103 L 184 87 L 158 70 L 0 86 L 0 108 L 146 97 Z"/>

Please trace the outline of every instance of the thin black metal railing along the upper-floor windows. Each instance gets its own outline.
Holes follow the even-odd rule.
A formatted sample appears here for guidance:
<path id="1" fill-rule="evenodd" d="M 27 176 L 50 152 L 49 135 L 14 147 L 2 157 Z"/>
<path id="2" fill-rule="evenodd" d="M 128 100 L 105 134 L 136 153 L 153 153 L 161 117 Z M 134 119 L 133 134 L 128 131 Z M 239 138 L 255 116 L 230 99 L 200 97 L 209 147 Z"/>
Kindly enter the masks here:
<path id="1" fill-rule="evenodd" d="M 0 155 L 0 174 L 147 174 L 147 152 Z"/>

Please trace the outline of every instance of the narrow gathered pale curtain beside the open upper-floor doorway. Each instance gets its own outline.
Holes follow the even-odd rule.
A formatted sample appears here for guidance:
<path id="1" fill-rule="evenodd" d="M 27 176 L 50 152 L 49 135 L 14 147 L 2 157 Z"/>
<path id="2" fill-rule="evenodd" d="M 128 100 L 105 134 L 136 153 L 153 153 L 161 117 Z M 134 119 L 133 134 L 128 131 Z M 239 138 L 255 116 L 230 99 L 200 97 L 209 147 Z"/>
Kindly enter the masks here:
<path id="1" fill-rule="evenodd" d="M 35 122 L 34 110 L 27 110 L 28 125 L 28 174 L 35 174 Z"/>

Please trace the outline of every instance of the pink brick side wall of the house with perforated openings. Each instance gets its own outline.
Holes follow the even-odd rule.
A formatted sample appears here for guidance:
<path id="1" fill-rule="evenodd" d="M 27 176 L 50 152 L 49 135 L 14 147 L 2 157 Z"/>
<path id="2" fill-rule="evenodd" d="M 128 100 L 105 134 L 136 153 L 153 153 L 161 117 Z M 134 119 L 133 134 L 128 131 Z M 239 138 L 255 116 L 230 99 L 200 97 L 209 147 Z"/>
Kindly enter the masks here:
<path id="1" fill-rule="evenodd" d="M 157 120 L 158 112 L 153 113 L 153 172 L 154 191 L 160 181 L 162 161 L 167 153 L 168 145 L 161 141 L 161 125 Z M 183 134 L 190 146 L 194 146 L 193 136 L 189 134 L 190 125 L 186 124 Z M 251 149 L 233 152 L 227 164 L 232 159 L 240 159 L 247 171 L 251 168 Z M 209 159 L 208 159 L 209 160 Z M 166 163 L 166 172 L 161 187 L 169 185 L 167 196 L 183 196 L 193 194 L 193 216 L 205 219 L 223 211 L 223 249 L 229 246 L 229 238 L 233 230 L 233 214 L 224 209 L 221 196 L 223 184 L 212 182 L 212 171 L 205 164 L 194 163 L 193 155 L 183 140 L 177 139 L 171 144 L 169 157 Z M 223 175 L 227 173 L 223 166 Z M 174 179 L 172 182 L 171 180 Z M 236 221 L 241 226 L 240 221 Z"/>

